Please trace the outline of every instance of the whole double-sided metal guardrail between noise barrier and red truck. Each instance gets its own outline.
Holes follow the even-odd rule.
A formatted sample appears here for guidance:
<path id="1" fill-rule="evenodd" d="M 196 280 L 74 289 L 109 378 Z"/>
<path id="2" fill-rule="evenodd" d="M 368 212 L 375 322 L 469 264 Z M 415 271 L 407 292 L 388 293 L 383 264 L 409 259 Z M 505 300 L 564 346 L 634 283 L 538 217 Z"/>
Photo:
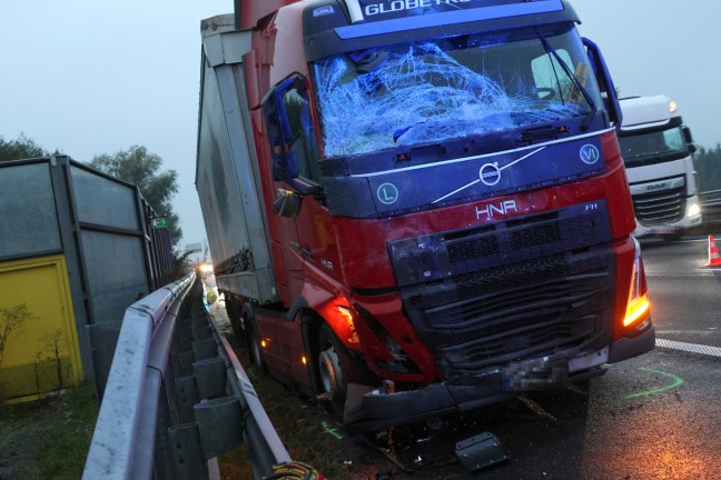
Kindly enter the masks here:
<path id="1" fill-rule="evenodd" d="M 206 479 L 240 443 L 257 479 L 290 461 L 201 289 L 190 273 L 127 309 L 83 479 Z"/>

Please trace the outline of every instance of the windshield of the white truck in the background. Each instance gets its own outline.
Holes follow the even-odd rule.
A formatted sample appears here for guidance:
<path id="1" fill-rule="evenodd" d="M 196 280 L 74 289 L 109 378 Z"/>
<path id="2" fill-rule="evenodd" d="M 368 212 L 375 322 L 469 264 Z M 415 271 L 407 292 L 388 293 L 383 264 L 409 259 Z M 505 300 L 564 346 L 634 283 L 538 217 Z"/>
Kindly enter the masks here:
<path id="1" fill-rule="evenodd" d="M 649 133 L 624 136 L 619 139 L 621 156 L 628 167 L 645 163 L 644 160 L 668 157 L 675 160 L 689 154 L 681 127 Z"/>

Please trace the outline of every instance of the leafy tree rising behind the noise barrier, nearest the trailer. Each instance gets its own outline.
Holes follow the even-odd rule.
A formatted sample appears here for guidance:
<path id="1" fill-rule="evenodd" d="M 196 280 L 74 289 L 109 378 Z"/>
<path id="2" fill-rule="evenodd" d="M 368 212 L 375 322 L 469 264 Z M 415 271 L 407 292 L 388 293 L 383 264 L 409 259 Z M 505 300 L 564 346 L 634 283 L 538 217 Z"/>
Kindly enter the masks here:
<path id="1" fill-rule="evenodd" d="M 170 204 L 174 194 L 178 192 L 178 172 L 160 171 L 161 166 L 162 159 L 159 156 L 140 146 L 131 146 L 113 154 L 95 156 L 90 161 L 90 167 L 137 184 L 155 211 L 168 218 L 170 239 L 175 246 L 182 237 L 178 216 Z"/>

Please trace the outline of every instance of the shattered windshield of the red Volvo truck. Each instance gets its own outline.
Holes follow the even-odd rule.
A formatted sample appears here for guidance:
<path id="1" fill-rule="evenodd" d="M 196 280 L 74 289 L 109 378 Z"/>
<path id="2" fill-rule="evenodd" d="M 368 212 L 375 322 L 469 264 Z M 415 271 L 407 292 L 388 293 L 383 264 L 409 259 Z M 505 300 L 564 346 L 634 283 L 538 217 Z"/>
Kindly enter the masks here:
<path id="1" fill-rule="evenodd" d="M 602 108 L 576 30 L 545 38 L 557 56 L 529 30 L 396 44 L 315 62 L 325 157 L 589 114 L 593 109 L 576 81 Z"/>

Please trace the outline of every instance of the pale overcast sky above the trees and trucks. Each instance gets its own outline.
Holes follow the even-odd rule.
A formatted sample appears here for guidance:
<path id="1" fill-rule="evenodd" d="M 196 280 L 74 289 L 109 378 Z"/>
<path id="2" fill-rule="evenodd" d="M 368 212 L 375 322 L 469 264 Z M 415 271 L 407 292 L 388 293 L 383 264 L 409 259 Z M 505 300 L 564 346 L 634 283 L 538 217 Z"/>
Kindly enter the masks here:
<path id="1" fill-rule="evenodd" d="M 665 93 L 697 143 L 721 141 L 721 2 L 575 0 L 622 96 Z M 179 173 L 185 233 L 205 228 L 195 191 L 201 19 L 233 0 L 0 0 L 0 136 L 76 160 L 147 147 Z"/>

